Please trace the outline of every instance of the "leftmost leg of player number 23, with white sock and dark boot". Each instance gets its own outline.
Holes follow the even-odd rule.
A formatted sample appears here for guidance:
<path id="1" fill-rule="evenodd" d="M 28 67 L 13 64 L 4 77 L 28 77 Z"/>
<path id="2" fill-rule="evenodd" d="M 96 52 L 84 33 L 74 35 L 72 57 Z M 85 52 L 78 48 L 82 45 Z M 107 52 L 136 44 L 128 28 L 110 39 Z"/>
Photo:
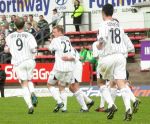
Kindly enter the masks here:
<path id="1" fill-rule="evenodd" d="M 47 83 L 47 87 L 49 89 L 49 92 L 51 93 L 52 97 L 56 100 L 57 105 L 54 108 L 53 112 L 58 112 L 59 109 L 61 109 L 64 106 L 64 103 L 62 102 L 62 99 L 60 97 L 60 93 L 59 91 L 57 91 L 57 89 L 51 85 L 50 83 Z"/>

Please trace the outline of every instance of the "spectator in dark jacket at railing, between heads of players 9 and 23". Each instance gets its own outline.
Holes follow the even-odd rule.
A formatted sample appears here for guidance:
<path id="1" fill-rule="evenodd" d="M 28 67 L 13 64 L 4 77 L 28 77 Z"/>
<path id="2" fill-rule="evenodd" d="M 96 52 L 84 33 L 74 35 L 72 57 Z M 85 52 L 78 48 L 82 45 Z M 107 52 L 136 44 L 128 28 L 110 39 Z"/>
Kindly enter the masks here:
<path id="1" fill-rule="evenodd" d="M 50 35 L 50 28 L 48 25 L 48 22 L 44 19 L 43 15 L 39 16 L 39 22 L 38 22 L 38 28 L 40 31 L 40 39 L 42 38 L 42 33 L 44 34 L 44 40 L 48 40 L 49 39 L 49 35 Z"/>

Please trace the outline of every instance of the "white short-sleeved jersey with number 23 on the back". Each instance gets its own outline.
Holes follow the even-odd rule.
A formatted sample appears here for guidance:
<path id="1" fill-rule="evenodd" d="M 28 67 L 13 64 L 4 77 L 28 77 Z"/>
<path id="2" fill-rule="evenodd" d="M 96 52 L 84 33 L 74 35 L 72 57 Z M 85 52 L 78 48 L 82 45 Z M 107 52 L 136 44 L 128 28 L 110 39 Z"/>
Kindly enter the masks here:
<path id="1" fill-rule="evenodd" d="M 74 57 L 73 54 L 74 49 L 71 45 L 70 39 L 67 36 L 60 36 L 58 38 L 54 38 L 49 45 L 49 50 L 55 52 L 55 63 L 54 69 L 62 72 L 73 71 L 74 69 L 74 61 L 63 61 L 63 56 Z"/>

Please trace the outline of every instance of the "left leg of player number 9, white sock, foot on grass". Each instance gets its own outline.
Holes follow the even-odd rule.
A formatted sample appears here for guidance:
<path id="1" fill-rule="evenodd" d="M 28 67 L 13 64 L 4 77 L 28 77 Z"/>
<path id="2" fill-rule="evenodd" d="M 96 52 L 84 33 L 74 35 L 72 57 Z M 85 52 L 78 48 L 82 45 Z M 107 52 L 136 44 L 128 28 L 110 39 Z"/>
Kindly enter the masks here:
<path id="1" fill-rule="evenodd" d="M 32 101 L 31 101 L 31 94 L 28 88 L 28 81 L 21 81 L 21 86 L 23 89 L 23 98 L 29 108 L 28 114 L 33 114 L 34 109 L 33 109 Z"/>

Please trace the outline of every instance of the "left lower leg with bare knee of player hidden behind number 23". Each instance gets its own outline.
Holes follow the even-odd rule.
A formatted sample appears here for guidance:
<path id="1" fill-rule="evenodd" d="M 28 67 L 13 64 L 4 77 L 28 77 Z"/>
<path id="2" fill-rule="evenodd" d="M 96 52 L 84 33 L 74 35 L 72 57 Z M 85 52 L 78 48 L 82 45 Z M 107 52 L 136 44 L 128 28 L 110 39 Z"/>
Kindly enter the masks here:
<path id="1" fill-rule="evenodd" d="M 84 97 L 83 97 L 83 94 L 82 94 L 82 91 L 80 90 L 80 88 L 77 87 L 75 83 L 73 83 L 69 86 L 69 89 L 74 94 L 77 101 L 79 102 L 79 104 L 82 107 L 80 112 L 88 112 L 88 107 L 84 101 Z"/>

